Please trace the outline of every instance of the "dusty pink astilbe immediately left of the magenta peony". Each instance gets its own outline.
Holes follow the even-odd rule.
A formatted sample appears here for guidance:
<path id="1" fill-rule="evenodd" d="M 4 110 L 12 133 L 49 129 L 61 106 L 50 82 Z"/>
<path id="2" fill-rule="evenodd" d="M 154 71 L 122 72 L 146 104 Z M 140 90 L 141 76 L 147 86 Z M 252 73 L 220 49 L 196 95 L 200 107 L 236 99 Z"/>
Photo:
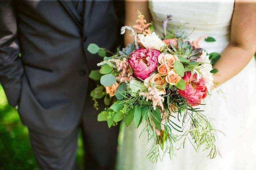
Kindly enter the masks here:
<path id="1" fill-rule="evenodd" d="M 123 58 L 123 60 L 113 58 L 110 61 L 116 64 L 116 69 L 119 72 L 117 77 L 119 82 L 130 81 L 132 79 L 132 73 L 126 58 Z"/>

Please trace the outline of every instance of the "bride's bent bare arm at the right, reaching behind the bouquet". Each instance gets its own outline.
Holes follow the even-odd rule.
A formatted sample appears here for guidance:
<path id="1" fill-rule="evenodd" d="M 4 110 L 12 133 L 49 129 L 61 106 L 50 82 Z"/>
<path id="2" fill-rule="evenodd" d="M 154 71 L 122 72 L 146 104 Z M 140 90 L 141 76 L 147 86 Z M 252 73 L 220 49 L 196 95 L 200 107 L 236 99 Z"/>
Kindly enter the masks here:
<path id="1" fill-rule="evenodd" d="M 239 73 L 256 52 L 256 3 L 236 0 L 231 22 L 231 41 L 214 65 L 214 86 L 218 86 Z M 253 74 L 255 73 L 248 73 Z"/>

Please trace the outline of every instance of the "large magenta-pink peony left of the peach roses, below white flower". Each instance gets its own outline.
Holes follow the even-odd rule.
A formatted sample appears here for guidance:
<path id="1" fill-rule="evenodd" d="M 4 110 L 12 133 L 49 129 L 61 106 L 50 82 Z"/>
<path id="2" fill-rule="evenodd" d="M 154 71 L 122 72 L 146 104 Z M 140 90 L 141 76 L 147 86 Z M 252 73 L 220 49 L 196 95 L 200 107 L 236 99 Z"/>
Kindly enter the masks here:
<path id="1" fill-rule="evenodd" d="M 131 53 L 128 60 L 134 75 L 145 80 L 149 75 L 157 70 L 157 57 L 160 52 L 156 49 L 139 48 Z"/>

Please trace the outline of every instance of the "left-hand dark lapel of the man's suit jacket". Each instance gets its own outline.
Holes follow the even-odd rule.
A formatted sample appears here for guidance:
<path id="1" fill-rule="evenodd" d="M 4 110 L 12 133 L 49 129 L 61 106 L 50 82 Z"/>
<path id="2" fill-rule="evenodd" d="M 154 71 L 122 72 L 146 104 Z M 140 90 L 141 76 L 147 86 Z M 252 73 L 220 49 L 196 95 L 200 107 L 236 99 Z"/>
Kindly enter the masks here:
<path id="1" fill-rule="evenodd" d="M 82 21 L 80 20 L 79 15 L 78 15 L 78 13 L 76 11 L 76 8 L 72 4 L 72 1 L 71 0 L 59 0 L 59 1 L 63 5 L 63 7 L 68 11 L 70 16 L 74 19 L 76 24 L 80 28 L 82 28 Z"/>

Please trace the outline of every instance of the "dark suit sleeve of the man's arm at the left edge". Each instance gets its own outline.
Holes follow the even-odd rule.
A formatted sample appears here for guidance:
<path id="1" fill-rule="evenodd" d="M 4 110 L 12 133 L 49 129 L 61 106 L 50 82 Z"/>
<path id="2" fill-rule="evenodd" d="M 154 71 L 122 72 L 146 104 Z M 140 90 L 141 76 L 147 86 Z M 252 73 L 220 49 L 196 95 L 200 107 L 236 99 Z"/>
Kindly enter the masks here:
<path id="1" fill-rule="evenodd" d="M 24 72 L 16 35 L 17 23 L 13 2 L 0 1 L 0 83 L 12 106 L 19 103 Z"/>

